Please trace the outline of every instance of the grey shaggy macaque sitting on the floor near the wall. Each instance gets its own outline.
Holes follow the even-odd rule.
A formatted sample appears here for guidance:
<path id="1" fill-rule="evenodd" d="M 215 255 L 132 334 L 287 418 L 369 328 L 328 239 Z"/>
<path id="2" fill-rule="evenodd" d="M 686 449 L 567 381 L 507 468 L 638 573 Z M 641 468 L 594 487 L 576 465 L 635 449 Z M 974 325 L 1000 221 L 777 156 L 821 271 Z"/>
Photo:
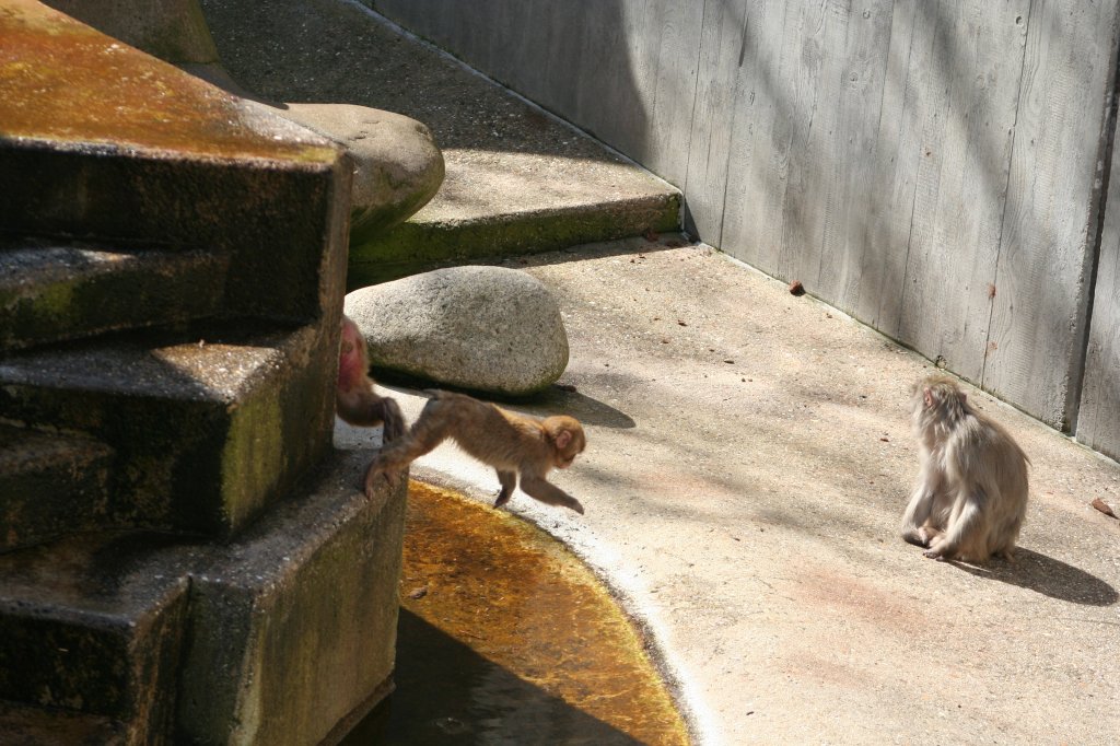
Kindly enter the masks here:
<path id="1" fill-rule="evenodd" d="M 903 538 L 937 560 L 1010 560 L 1027 510 L 1026 454 L 952 379 L 918 382 L 911 403 L 922 468 Z"/>

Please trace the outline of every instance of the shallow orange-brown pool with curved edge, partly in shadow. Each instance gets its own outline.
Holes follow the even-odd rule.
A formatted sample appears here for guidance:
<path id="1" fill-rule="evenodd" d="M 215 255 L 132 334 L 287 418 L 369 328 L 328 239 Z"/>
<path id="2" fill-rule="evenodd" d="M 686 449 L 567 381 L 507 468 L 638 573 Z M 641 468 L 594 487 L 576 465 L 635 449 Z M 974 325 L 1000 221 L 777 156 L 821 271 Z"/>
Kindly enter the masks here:
<path id="1" fill-rule="evenodd" d="M 409 486 L 396 691 L 344 740 L 685 745 L 634 625 L 535 526 Z"/>

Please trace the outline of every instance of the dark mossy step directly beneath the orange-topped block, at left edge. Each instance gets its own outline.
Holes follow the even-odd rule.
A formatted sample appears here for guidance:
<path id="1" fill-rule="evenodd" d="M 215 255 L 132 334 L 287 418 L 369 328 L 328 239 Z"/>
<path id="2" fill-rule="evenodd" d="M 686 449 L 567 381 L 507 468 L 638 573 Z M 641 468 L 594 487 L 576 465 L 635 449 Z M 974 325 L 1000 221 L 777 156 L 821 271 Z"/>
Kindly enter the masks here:
<path id="1" fill-rule="evenodd" d="M 220 313 L 230 258 L 24 239 L 0 243 L 0 348 Z"/>

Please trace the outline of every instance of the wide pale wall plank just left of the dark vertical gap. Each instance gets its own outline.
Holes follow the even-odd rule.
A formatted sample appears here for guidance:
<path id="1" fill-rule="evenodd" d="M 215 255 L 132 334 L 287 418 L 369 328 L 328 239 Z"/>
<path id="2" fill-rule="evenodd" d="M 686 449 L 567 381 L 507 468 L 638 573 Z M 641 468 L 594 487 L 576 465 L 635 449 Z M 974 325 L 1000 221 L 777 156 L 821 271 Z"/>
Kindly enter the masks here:
<path id="1" fill-rule="evenodd" d="M 1034 2 L 982 384 L 1049 425 L 1075 412 L 1117 3 Z"/>

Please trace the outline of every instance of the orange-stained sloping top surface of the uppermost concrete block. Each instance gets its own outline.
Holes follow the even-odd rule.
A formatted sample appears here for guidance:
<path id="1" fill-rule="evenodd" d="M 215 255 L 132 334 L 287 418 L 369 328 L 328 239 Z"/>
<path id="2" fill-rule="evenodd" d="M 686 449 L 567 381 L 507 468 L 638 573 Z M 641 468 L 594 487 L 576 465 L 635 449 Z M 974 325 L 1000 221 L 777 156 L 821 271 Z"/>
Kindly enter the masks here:
<path id="1" fill-rule="evenodd" d="M 282 136 L 261 119 L 224 91 L 35 0 L 0 7 L 0 138 L 216 158 L 336 157 L 328 143 Z"/>

